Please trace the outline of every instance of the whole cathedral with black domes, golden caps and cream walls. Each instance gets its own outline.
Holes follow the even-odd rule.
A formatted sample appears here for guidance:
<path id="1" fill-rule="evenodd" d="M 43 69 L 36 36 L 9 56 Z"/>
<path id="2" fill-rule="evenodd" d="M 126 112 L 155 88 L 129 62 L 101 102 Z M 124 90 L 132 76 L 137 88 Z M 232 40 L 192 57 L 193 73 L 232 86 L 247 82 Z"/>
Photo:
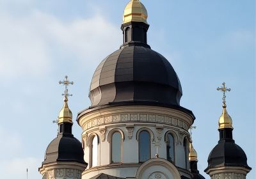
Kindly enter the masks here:
<path id="1" fill-rule="evenodd" d="M 39 168 L 43 179 L 203 179 L 191 132 L 195 116 L 180 106 L 182 87 L 170 62 L 147 44 L 147 9 L 125 6 L 123 44 L 99 64 L 90 85 L 91 105 L 76 118 L 82 143 L 72 134 L 66 76 L 58 135 Z M 252 169 L 232 137 L 225 83 L 220 139 L 204 170 L 211 179 L 245 179 Z M 216 121 L 217 123 L 217 121 Z M 216 131 L 217 132 L 217 131 Z M 216 139 L 217 140 L 217 139 Z"/>

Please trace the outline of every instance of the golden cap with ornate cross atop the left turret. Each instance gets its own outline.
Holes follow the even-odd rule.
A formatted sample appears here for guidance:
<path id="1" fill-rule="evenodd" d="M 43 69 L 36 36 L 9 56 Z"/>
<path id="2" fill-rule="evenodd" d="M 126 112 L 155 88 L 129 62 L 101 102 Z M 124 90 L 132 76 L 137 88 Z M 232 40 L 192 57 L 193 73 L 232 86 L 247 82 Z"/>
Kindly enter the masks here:
<path id="1" fill-rule="evenodd" d="M 68 108 L 68 97 L 72 96 L 72 94 L 68 93 L 68 86 L 69 84 L 74 84 L 74 82 L 68 81 L 68 76 L 65 76 L 65 79 L 63 81 L 60 81 L 59 84 L 63 84 L 65 86 L 65 91 L 62 94 L 64 96 L 64 104 L 58 117 L 58 123 L 73 123 L 72 112 Z"/>

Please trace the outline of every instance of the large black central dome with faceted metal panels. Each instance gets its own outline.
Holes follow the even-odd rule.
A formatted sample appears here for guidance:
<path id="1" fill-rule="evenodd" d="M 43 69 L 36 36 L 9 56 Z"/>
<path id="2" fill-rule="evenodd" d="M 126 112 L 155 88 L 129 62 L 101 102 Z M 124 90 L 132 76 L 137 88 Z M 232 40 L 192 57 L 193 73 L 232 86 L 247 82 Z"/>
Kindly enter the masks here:
<path id="1" fill-rule="evenodd" d="M 150 47 L 127 46 L 105 58 L 90 87 L 92 106 L 115 102 L 179 105 L 182 88 L 172 65 Z"/>

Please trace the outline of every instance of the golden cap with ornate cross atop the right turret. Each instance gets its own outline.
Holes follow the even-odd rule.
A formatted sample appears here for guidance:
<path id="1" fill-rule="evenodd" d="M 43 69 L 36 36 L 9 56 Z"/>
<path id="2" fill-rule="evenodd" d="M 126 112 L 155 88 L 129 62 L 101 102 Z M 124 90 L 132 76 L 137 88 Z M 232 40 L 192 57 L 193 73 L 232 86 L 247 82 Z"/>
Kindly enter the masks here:
<path id="1" fill-rule="evenodd" d="M 223 92 L 223 104 L 222 104 L 222 107 L 223 107 L 223 111 L 222 111 L 222 114 L 220 116 L 220 119 L 219 119 L 219 129 L 221 128 L 233 128 L 232 127 L 232 118 L 228 115 L 228 112 L 227 112 L 227 104 L 226 104 L 226 95 L 225 95 L 225 92 L 226 91 L 231 91 L 230 88 L 226 88 L 225 87 L 225 82 L 222 83 L 222 86 L 221 88 L 217 88 L 218 91 L 222 91 Z"/>

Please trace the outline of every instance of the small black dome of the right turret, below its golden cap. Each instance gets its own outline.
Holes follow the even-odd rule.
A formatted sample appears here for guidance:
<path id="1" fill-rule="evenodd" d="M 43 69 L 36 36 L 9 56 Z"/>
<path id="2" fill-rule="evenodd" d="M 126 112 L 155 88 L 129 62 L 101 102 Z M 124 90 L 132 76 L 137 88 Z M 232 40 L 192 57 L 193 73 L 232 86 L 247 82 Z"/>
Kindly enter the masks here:
<path id="1" fill-rule="evenodd" d="M 220 140 L 212 149 L 208 157 L 208 167 L 237 166 L 251 169 L 247 164 L 247 157 L 243 149 L 234 140 Z"/>

